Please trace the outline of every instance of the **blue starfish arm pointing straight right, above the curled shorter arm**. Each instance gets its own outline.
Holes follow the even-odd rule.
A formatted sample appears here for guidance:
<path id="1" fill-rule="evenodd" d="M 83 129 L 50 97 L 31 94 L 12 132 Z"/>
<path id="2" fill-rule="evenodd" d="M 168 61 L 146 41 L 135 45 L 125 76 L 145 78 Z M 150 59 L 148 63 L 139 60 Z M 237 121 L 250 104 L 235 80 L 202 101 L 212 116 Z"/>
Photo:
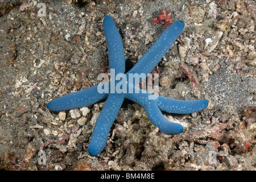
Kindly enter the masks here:
<path id="1" fill-rule="evenodd" d="M 160 110 L 177 114 L 195 113 L 208 106 L 207 100 L 182 101 L 163 96 L 158 96 L 157 102 Z"/>

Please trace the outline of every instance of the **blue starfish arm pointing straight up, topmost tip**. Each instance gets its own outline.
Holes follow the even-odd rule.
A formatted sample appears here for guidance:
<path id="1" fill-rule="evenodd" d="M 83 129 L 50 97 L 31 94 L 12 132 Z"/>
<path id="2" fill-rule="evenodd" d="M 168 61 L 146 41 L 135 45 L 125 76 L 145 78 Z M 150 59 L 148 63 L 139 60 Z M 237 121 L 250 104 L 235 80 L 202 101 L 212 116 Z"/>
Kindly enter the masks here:
<path id="1" fill-rule="evenodd" d="M 115 75 L 125 73 L 125 50 L 114 20 L 106 16 L 103 27 L 109 51 L 109 68 L 115 69 Z"/>

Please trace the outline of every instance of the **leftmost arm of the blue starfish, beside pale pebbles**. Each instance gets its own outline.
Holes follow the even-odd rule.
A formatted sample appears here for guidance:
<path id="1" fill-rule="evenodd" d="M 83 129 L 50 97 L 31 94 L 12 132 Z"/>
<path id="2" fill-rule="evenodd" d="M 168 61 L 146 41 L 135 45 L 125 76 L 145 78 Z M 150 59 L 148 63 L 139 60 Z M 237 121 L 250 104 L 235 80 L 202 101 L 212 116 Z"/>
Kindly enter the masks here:
<path id="1" fill-rule="evenodd" d="M 63 111 L 95 104 L 108 97 L 107 93 L 98 93 L 97 87 L 98 85 L 92 86 L 88 89 L 56 98 L 49 101 L 46 106 L 51 111 Z"/>

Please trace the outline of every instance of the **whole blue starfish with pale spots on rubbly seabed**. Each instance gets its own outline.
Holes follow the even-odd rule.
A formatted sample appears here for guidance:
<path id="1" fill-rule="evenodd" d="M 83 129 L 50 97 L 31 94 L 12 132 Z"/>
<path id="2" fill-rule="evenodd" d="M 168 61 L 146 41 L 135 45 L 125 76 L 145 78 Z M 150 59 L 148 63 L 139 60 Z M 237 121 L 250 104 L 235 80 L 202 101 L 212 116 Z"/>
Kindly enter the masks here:
<path id="1" fill-rule="evenodd" d="M 129 78 L 130 74 L 138 73 L 138 75 L 140 75 L 144 73 L 146 75 L 150 73 L 179 37 L 183 28 L 184 23 L 180 20 L 172 23 L 171 26 L 160 35 L 152 47 L 144 53 L 141 59 L 138 60 L 137 64 L 125 74 L 125 54 L 122 39 L 117 27 L 115 27 L 113 19 L 110 18 L 110 16 L 106 16 L 104 19 L 104 32 L 109 51 L 110 76 L 115 77 L 119 75 L 120 78 Z M 94 125 L 93 134 L 88 147 L 89 155 L 96 156 L 105 147 L 110 127 L 117 117 L 125 98 L 143 106 L 144 109 L 146 109 L 151 123 L 159 127 L 160 131 L 167 134 L 179 134 L 183 132 L 183 126 L 179 123 L 168 121 L 164 118 L 161 110 L 168 113 L 188 114 L 203 110 L 208 106 L 207 100 L 181 101 L 163 96 L 158 96 L 155 100 L 150 99 L 150 97 L 154 97 L 154 95 L 136 87 L 135 85 L 139 82 L 139 79 L 135 79 L 135 81 L 133 80 L 132 82 L 129 80 L 125 82 L 126 84 L 122 86 L 119 85 L 118 88 L 118 83 L 115 84 L 114 79 L 112 79 L 110 82 L 56 98 L 48 102 L 47 108 L 51 111 L 70 110 L 92 105 L 107 98 Z M 112 89 L 113 85 L 114 90 Z M 99 86 L 109 90 L 109 92 L 100 93 L 98 91 Z M 122 92 L 123 90 L 126 92 Z M 130 92 L 130 90 L 133 92 Z"/>

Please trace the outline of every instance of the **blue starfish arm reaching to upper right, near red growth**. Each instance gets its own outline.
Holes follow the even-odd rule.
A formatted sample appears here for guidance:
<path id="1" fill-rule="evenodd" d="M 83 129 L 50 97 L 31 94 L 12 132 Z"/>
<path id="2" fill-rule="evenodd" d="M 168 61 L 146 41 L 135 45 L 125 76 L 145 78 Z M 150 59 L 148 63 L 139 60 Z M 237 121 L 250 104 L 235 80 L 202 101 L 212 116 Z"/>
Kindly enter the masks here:
<path id="1" fill-rule="evenodd" d="M 146 53 L 138 60 L 134 67 L 128 72 L 129 73 L 150 73 L 162 57 L 166 54 L 168 49 L 172 46 L 175 40 L 180 36 L 183 31 L 184 23 L 180 20 L 172 23 L 162 35 L 159 36 L 158 40 L 153 46 L 148 49 Z M 135 82 L 135 85 L 138 83 Z"/>

